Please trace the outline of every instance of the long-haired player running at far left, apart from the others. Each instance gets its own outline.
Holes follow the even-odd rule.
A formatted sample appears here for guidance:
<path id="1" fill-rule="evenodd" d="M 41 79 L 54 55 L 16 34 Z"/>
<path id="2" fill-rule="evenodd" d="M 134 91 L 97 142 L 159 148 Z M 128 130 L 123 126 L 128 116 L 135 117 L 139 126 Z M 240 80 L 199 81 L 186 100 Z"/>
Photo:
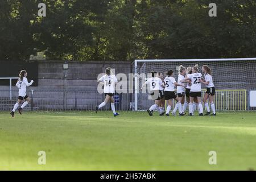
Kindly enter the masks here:
<path id="1" fill-rule="evenodd" d="M 27 86 L 30 86 L 33 84 L 33 80 L 30 81 L 30 83 L 28 83 L 27 81 L 27 72 L 26 70 L 22 70 L 19 73 L 19 79 L 16 83 L 16 87 L 19 88 L 19 97 L 18 97 L 18 101 L 16 102 L 16 104 L 13 107 L 13 110 L 11 111 L 11 116 L 14 117 L 14 113 L 16 111 L 16 109 L 19 107 L 19 105 L 21 104 L 21 102 L 23 100 L 26 100 L 21 107 L 19 107 L 18 111 L 19 114 L 22 114 L 22 109 L 31 102 L 30 97 L 27 96 L 26 91 L 27 91 Z"/>

